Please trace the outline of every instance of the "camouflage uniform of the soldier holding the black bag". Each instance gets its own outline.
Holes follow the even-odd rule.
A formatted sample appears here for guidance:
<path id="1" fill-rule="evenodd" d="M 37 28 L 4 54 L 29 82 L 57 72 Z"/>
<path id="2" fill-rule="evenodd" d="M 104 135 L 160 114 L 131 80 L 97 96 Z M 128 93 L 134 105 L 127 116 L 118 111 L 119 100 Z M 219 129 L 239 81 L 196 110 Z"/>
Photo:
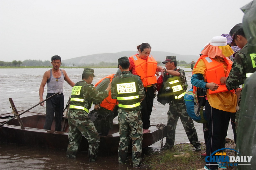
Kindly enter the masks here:
<path id="1" fill-rule="evenodd" d="M 180 73 L 180 79 L 182 82 L 183 89 L 187 90 L 188 84 L 185 76 L 184 70 L 176 70 Z M 171 78 L 172 75 L 167 75 L 167 78 Z M 195 147 L 199 148 L 201 146 L 197 138 L 196 128 L 194 127 L 193 120 L 187 114 L 187 108 L 182 97 L 182 100 L 173 100 L 169 104 L 169 110 L 167 112 L 167 136 L 165 141 L 165 146 L 167 148 L 172 148 L 175 141 L 175 129 L 177 126 L 178 119 L 184 127 L 184 130 L 187 134 L 189 142 Z"/>

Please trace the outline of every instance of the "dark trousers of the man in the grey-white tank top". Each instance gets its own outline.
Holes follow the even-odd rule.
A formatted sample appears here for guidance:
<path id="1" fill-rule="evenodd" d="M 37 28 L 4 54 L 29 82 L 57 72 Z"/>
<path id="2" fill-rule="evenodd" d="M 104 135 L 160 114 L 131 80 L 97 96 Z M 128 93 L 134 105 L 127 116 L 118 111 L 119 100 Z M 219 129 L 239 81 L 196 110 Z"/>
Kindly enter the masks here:
<path id="1" fill-rule="evenodd" d="M 52 96 L 54 93 L 47 93 L 46 98 Z M 46 119 L 44 129 L 51 130 L 53 118 L 55 115 L 55 130 L 61 131 L 61 121 L 64 109 L 64 95 L 55 95 L 46 100 Z"/>

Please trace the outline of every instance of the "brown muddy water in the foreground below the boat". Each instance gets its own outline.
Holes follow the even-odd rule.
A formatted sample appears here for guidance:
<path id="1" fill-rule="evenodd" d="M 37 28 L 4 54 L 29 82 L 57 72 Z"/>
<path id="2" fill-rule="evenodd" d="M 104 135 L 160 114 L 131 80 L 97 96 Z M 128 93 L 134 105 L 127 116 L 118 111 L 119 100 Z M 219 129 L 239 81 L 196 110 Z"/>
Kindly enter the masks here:
<path id="1" fill-rule="evenodd" d="M 96 162 L 89 163 L 87 152 L 78 152 L 76 159 L 66 157 L 66 150 L 0 143 L 1 170 L 127 170 L 132 168 L 132 156 L 126 165 L 118 164 L 118 155 L 99 155 Z"/>

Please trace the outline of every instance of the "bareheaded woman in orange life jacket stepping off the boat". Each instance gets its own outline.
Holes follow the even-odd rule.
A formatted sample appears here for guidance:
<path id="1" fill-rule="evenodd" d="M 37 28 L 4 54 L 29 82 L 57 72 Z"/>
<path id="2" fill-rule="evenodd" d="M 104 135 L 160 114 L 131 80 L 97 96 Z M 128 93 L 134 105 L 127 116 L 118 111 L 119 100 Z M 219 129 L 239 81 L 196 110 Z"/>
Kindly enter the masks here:
<path id="1" fill-rule="evenodd" d="M 154 101 L 154 86 L 156 83 L 157 71 L 161 71 L 163 68 L 157 66 L 156 60 L 150 55 L 151 46 L 148 43 L 142 43 L 137 46 L 138 54 L 129 57 L 130 68 L 132 74 L 138 75 L 144 86 L 146 97 L 140 103 L 141 105 L 141 116 L 143 122 L 143 133 L 149 133 L 150 130 L 150 115 L 152 112 L 153 101 Z M 157 72 L 157 73 L 156 73 Z"/>

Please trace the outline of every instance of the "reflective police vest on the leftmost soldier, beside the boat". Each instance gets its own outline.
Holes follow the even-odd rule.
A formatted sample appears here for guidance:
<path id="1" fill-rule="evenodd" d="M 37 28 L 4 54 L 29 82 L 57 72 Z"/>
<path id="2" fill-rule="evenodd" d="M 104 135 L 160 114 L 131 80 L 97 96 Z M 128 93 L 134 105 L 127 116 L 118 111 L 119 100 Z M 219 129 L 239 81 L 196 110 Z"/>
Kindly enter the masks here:
<path id="1" fill-rule="evenodd" d="M 89 113 L 90 108 L 84 107 L 85 101 L 83 96 L 83 89 L 85 85 L 87 85 L 87 83 L 85 83 L 84 81 L 79 81 L 74 85 L 74 87 L 72 88 L 69 109 L 84 110 L 85 112 Z"/>

